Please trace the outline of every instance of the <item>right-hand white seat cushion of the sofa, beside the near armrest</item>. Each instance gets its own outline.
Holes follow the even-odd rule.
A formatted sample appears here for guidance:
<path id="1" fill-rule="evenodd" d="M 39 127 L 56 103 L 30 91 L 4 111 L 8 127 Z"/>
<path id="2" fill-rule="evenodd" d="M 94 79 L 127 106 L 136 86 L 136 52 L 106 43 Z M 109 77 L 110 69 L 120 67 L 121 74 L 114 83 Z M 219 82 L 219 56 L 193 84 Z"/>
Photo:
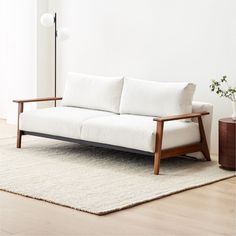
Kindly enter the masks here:
<path id="1" fill-rule="evenodd" d="M 156 122 L 152 117 L 115 115 L 83 122 L 81 138 L 87 141 L 122 146 L 146 152 L 155 151 Z M 164 126 L 164 149 L 200 140 L 198 124 L 171 121 Z"/>

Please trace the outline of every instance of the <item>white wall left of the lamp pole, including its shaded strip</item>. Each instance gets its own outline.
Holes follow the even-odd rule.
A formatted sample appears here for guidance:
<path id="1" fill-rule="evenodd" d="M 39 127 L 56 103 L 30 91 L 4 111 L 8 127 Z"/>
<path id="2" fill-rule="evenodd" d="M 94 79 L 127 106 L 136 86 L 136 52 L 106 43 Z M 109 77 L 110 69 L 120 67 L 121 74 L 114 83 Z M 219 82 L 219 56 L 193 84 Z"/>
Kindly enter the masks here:
<path id="1" fill-rule="evenodd" d="M 0 0 L 0 118 L 8 123 L 16 123 L 13 99 L 54 95 L 54 34 L 40 24 L 48 7 L 48 0 Z"/>

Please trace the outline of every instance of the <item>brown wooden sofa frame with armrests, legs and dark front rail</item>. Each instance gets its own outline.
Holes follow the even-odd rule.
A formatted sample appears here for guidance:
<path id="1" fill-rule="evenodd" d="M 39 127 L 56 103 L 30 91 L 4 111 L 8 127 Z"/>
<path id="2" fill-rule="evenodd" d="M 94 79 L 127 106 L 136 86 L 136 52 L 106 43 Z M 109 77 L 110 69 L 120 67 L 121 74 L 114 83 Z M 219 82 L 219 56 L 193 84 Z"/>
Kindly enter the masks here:
<path id="1" fill-rule="evenodd" d="M 155 175 L 159 174 L 160 160 L 164 159 L 164 158 L 173 157 L 173 156 L 177 156 L 177 155 L 184 155 L 184 154 L 192 153 L 192 152 L 202 152 L 207 161 L 211 160 L 208 145 L 207 145 L 206 135 L 205 135 L 205 131 L 204 131 L 203 123 L 202 123 L 202 116 L 208 115 L 209 112 L 189 113 L 189 114 L 154 118 L 153 120 L 157 124 L 156 125 L 155 153 L 144 152 L 144 151 L 140 151 L 140 150 L 136 150 L 136 149 L 124 148 L 124 147 L 119 147 L 119 146 L 115 146 L 115 145 L 101 144 L 101 143 L 89 142 L 89 141 L 84 141 L 84 140 L 71 139 L 71 138 L 65 138 L 65 137 L 60 137 L 60 136 L 54 136 L 54 135 L 48 135 L 48 134 L 20 130 L 20 126 L 19 126 L 20 114 L 24 110 L 25 103 L 45 102 L 45 101 L 55 101 L 56 102 L 57 100 L 62 100 L 62 98 L 61 97 L 50 97 L 50 98 L 39 98 L 39 99 L 29 99 L 29 100 L 13 100 L 13 102 L 18 103 L 17 142 L 16 142 L 17 148 L 21 148 L 22 135 L 34 135 L 34 136 L 52 138 L 52 139 L 57 139 L 57 140 L 64 140 L 64 141 L 69 141 L 69 142 L 92 144 L 92 145 L 99 146 L 99 147 L 108 147 L 108 148 L 112 148 L 112 149 L 116 149 L 116 150 L 129 151 L 129 152 L 140 153 L 140 154 L 145 154 L 145 155 L 152 155 L 153 156 L 153 154 L 154 154 L 154 174 Z M 174 121 L 174 120 L 190 119 L 190 118 L 197 118 L 197 120 L 198 120 L 199 131 L 200 131 L 200 142 L 162 150 L 164 123 L 169 122 L 169 121 Z"/>

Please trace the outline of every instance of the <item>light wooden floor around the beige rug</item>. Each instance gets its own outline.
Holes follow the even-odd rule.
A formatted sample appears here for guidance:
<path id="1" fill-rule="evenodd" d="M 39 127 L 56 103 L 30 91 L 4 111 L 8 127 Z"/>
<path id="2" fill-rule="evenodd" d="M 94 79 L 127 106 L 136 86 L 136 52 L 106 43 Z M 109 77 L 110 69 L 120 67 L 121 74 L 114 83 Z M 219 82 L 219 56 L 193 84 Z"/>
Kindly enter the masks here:
<path id="1" fill-rule="evenodd" d="M 14 130 L 14 126 L 0 120 L 0 138 L 14 135 Z M 236 178 L 106 216 L 0 191 L 0 236 L 5 235 L 233 236 Z"/>

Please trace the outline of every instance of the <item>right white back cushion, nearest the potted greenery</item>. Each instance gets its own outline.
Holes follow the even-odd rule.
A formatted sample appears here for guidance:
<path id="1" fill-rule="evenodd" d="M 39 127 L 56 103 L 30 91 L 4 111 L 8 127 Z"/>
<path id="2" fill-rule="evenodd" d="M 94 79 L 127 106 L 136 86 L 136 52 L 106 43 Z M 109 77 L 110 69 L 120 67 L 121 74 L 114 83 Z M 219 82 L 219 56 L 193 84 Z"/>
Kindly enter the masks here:
<path id="1" fill-rule="evenodd" d="M 192 112 L 195 85 L 125 78 L 120 113 L 167 116 Z"/>

